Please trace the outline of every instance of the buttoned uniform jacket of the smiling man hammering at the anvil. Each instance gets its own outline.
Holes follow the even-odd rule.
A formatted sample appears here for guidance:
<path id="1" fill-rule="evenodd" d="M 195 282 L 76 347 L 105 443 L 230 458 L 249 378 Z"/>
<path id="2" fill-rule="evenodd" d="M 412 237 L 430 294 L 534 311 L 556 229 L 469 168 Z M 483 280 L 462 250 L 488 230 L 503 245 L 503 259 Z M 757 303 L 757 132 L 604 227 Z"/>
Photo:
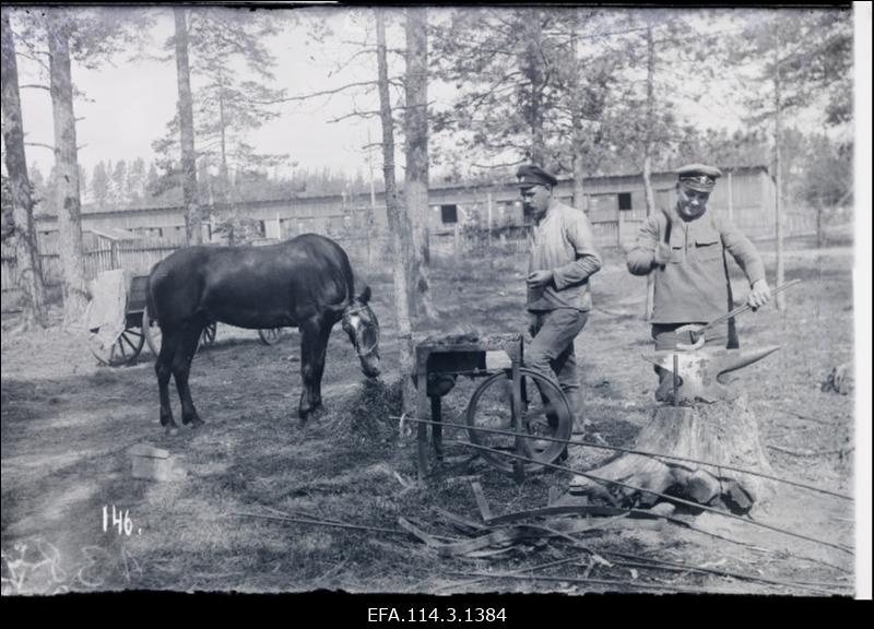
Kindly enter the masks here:
<path id="1" fill-rule="evenodd" d="M 749 284 L 765 277 L 765 265 L 749 239 L 712 212 L 686 222 L 671 214 L 671 260 L 654 265 L 656 247 L 664 241 L 668 216 L 651 215 L 628 252 L 628 270 L 635 275 L 656 275 L 652 323 L 711 321 L 728 312 L 723 248 L 743 269 Z"/>

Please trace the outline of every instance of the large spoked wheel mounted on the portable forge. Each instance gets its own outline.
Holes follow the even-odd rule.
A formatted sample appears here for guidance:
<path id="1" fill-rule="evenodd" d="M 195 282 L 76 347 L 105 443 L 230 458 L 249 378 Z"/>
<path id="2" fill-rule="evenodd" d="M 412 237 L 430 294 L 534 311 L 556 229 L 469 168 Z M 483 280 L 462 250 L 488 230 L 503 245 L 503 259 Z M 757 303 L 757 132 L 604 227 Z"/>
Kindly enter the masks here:
<path id="1" fill-rule="evenodd" d="M 468 404 L 468 432 L 473 443 L 517 453 L 516 438 L 508 435 L 485 432 L 476 428 L 495 428 L 513 432 L 527 432 L 531 438 L 521 438 L 521 454 L 542 463 L 552 463 L 564 451 L 566 444 L 538 439 L 552 437 L 569 439 L 570 407 L 562 390 L 548 378 L 524 367 L 519 369 L 521 408 L 517 410 L 512 395 L 512 370 L 505 369 L 485 380 L 473 392 Z M 482 452 L 492 465 L 507 473 L 513 472 L 512 456 Z M 540 467 L 525 463 L 525 471 Z"/>

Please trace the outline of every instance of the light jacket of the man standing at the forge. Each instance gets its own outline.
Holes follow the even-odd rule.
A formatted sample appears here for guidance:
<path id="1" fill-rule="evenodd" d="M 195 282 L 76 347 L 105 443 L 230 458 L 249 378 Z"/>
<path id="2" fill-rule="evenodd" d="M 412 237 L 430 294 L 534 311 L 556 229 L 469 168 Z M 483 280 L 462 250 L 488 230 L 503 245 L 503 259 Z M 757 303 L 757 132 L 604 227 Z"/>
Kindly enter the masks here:
<path id="1" fill-rule="evenodd" d="M 553 272 L 550 286 L 528 288 L 529 310 L 592 307 L 589 277 L 601 269 L 592 226 L 586 214 L 553 200 L 531 233 L 529 273 Z"/>

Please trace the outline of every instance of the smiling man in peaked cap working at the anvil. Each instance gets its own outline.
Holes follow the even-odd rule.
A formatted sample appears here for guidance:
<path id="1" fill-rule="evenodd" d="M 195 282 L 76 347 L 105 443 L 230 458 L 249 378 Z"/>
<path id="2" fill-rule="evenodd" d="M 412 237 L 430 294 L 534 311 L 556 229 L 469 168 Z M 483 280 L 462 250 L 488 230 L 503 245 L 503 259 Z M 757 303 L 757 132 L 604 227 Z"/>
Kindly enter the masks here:
<path id="1" fill-rule="evenodd" d="M 733 307 L 727 251 L 749 282 L 749 305 L 757 309 L 770 299 L 765 265 L 756 248 L 727 218 L 707 213 L 710 192 L 722 175 L 719 168 L 689 164 L 678 168 L 676 175 L 676 205 L 647 218 L 627 256 L 633 274 L 656 276 L 652 337 L 657 351 L 674 349 L 677 343 L 693 344 L 692 333 L 681 328 L 707 323 Z M 709 330 L 705 340 L 710 346 L 725 346 L 728 327 Z M 657 367 L 657 372 L 656 399 L 664 401 L 672 378 L 661 368 Z"/>

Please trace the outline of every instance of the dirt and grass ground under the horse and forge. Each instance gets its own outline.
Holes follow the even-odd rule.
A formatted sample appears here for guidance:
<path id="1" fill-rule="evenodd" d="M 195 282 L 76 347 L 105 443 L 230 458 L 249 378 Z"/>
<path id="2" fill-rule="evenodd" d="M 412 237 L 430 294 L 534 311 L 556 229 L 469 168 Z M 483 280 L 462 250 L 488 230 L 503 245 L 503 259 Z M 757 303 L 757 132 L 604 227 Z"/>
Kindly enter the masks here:
<path id="1" fill-rule="evenodd" d="M 793 244 L 788 252 L 787 280 L 803 282 L 787 293 L 789 307 L 739 319 L 745 346 L 782 346 L 739 380 L 775 474 L 850 495 L 853 396 L 820 385 L 832 367 L 853 357 L 852 248 L 804 247 Z M 772 278 L 773 256 L 764 256 Z M 132 366 L 101 367 L 83 331 L 5 333 L 16 320 L 4 316 L 2 593 L 853 594 L 853 502 L 786 485 L 754 511 L 755 522 L 813 541 L 710 513 L 686 515 L 694 529 L 625 519 L 572 541 L 533 539 L 472 557 L 444 557 L 403 532 L 399 518 L 441 542 L 469 539 L 440 509 L 479 520 L 472 480 L 494 513 L 506 513 L 545 506 L 550 489 L 563 492 L 571 475 L 530 474 L 517 484 L 462 446 L 449 444 L 446 463 L 420 488 L 415 439 L 399 434 L 394 419 L 400 403 L 390 384 L 398 345 L 389 276 L 359 270 L 374 288 L 385 376 L 368 383 L 335 329 L 323 379 L 326 412 L 306 425 L 296 417 L 296 333 L 268 347 L 255 332 L 220 324 L 215 345 L 198 354 L 191 370 L 206 425 L 165 436 L 147 349 Z M 417 325 L 416 335 L 522 331 L 522 271 L 521 259 L 507 257 L 439 263 L 434 294 L 441 321 Z M 626 272 L 617 251 L 606 251 L 604 269 L 592 281 L 595 310 L 577 344 L 586 416 L 614 446 L 631 443 L 654 404 L 651 366 L 641 358 L 651 349 L 641 319 L 645 285 Z M 744 293 L 739 281 L 735 294 Z M 54 319 L 59 321 L 59 312 Z M 477 383 L 459 381 L 445 399 L 445 419 L 463 420 Z M 173 401 L 178 418 L 175 393 Z M 453 436 L 447 430 L 447 438 Z M 133 478 L 135 444 L 178 455 L 187 477 Z M 606 456 L 574 447 L 568 464 L 591 468 Z M 280 513 L 320 523 L 264 518 Z M 382 530 L 332 525 L 338 522 Z M 647 567 L 647 559 L 682 568 Z M 532 571 L 548 562 L 557 565 Z M 529 579 L 498 577 L 524 570 Z M 580 578 L 589 581 L 574 581 Z"/>

